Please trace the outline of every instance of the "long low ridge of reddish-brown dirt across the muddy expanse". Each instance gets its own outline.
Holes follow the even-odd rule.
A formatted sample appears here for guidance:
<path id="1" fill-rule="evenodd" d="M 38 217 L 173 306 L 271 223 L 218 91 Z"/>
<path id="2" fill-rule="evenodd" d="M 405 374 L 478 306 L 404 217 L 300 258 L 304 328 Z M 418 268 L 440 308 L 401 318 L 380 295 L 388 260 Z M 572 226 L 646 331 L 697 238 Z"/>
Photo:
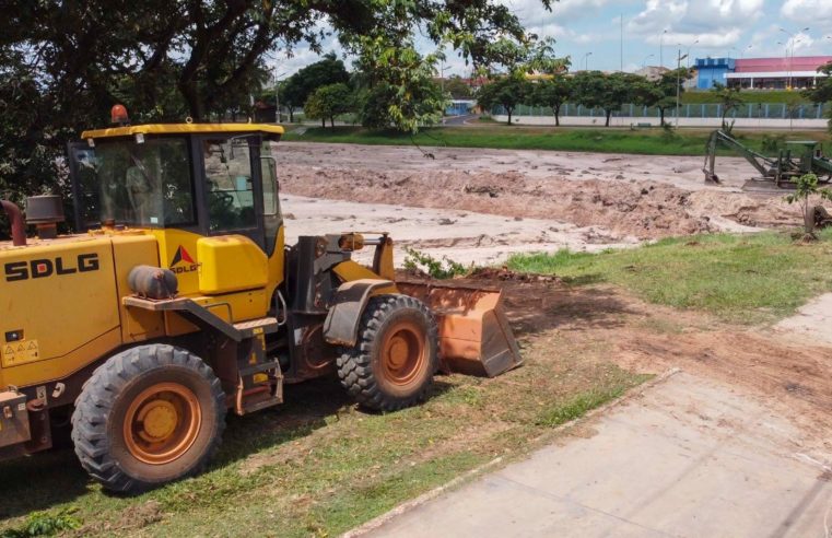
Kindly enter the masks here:
<path id="1" fill-rule="evenodd" d="M 282 169 L 282 186 L 293 195 L 553 219 L 640 238 L 715 230 L 710 219 L 695 210 L 690 191 L 648 182 L 532 179 L 517 172 L 426 174 L 290 165 Z"/>

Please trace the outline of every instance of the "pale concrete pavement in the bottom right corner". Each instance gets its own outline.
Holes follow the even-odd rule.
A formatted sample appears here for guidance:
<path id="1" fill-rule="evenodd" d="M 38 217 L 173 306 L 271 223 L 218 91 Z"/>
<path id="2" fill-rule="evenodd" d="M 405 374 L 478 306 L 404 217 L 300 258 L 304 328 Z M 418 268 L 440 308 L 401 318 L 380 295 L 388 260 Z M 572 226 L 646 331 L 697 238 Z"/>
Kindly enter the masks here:
<path id="1" fill-rule="evenodd" d="M 680 373 L 591 428 L 368 536 L 829 536 L 830 458 L 727 386 Z"/>

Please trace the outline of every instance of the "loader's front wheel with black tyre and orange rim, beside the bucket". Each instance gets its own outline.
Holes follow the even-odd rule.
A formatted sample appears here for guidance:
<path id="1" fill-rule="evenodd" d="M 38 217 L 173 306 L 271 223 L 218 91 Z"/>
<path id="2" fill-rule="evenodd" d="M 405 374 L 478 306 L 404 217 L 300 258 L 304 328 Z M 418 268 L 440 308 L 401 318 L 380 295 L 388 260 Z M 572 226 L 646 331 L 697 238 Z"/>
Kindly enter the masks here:
<path id="1" fill-rule="evenodd" d="M 372 297 L 355 347 L 338 358 L 341 385 L 362 407 L 396 411 L 424 399 L 438 367 L 433 315 L 408 295 Z"/>

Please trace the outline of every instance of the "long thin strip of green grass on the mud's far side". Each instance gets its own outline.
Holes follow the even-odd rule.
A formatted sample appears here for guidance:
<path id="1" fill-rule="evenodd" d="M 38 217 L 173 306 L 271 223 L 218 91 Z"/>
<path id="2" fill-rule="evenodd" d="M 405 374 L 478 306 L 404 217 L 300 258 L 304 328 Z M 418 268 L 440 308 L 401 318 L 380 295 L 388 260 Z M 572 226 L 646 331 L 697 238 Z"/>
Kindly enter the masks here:
<path id="1" fill-rule="evenodd" d="M 396 131 L 367 130 L 358 127 L 307 128 L 303 133 L 286 132 L 284 139 L 305 142 L 337 142 L 376 145 L 494 148 L 512 150 L 594 151 L 646 155 L 704 155 L 711 130 L 681 130 L 667 134 L 661 129 L 631 131 L 599 128 L 541 128 L 485 125 L 425 129 L 415 137 Z M 735 132 L 743 144 L 761 151 L 763 132 Z M 782 133 L 778 133 L 782 134 Z M 788 132 L 788 138 L 827 140 L 821 131 Z M 720 154 L 731 155 L 728 150 Z"/>

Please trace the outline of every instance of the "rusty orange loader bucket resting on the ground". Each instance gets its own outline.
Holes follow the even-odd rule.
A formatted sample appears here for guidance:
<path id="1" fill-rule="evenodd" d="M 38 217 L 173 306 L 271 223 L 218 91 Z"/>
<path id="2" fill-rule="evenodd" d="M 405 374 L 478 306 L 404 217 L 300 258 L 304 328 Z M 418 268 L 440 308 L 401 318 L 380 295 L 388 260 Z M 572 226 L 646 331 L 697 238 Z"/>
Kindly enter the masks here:
<path id="1" fill-rule="evenodd" d="M 442 371 L 494 377 L 523 363 L 500 290 L 421 282 L 396 286 L 436 316 Z"/>

